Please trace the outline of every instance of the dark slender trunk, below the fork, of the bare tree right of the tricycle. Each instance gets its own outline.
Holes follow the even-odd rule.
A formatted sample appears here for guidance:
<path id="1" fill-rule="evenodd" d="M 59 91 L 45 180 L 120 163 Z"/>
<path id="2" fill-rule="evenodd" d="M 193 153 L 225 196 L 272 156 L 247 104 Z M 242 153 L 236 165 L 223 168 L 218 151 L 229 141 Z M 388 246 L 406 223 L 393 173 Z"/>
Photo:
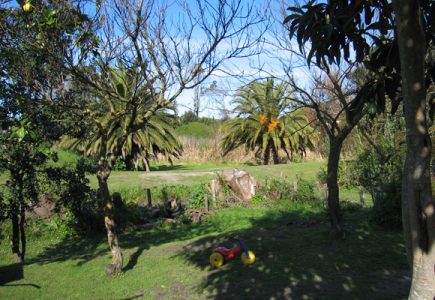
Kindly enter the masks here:
<path id="1" fill-rule="evenodd" d="M 328 211 L 331 218 L 332 229 L 337 233 L 337 235 L 344 235 L 338 189 L 338 163 L 340 160 L 342 144 L 343 143 L 339 139 L 331 136 L 329 137 L 329 155 L 326 177 L 326 185 L 328 187 Z"/>

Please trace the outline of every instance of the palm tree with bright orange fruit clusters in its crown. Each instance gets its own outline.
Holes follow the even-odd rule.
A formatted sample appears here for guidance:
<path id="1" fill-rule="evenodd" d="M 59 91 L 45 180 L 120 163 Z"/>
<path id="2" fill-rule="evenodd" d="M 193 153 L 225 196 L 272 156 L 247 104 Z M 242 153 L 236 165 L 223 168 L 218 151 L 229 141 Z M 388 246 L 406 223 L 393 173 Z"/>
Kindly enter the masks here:
<path id="1" fill-rule="evenodd" d="M 254 81 L 241 88 L 233 103 L 237 117 L 224 124 L 222 149 L 224 155 L 244 145 L 268 164 L 279 163 L 278 150 L 289 159 L 293 153 L 305 152 L 313 145 L 309 125 L 303 110 L 295 109 L 291 90 L 285 82 L 275 84 L 273 78 Z"/>

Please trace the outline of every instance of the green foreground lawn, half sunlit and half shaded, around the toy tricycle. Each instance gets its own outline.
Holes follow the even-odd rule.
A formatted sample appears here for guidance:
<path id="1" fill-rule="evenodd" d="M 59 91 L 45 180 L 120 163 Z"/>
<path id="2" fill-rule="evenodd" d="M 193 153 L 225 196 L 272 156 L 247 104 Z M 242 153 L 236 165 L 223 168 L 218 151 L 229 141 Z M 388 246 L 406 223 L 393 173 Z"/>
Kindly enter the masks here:
<path id="1" fill-rule="evenodd" d="M 401 299 L 409 288 L 402 235 L 346 211 L 346 240 L 323 212 L 296 206 L 228 208 L 201 224 L 121 234 L 123 273 L 106 277 L 104 237 L 29 241 L 24 272 L 0 245 L 0 299 Z M 213 269 L 209 255 L 242 238 L 257 262 Z M 14 280 L 14 275 L 22 279 Z"/>

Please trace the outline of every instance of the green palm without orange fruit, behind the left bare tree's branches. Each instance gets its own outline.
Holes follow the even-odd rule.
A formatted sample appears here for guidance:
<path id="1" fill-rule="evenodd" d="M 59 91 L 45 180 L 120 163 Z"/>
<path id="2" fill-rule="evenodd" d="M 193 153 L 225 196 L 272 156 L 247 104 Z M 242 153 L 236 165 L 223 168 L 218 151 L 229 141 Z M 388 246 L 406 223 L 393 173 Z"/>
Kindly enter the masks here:
<path id="1" fill-rule="evenodd" d="M 150 95 L 145 89 L 135 88 L 137 82 L 135 82 L 134 77 L 131 75 L 129 71 L 123 70 L 122 66 L 120 69 L 111 70 L 109 77 L 113 89 L 121 99 L 137 97 L 145 99 L 143 102 L 146 104 L 146 99 L 150 98 Z M 100 101 L 96 99 L 96 103 L 98 104 Z M 112 103 L 112 106 L 112 109 L 115 111 L 125 111 L 128 109 L 126 102 L 122 100 Z M 110 114 L 110 112 L 105 111 L 107 108 L 105 105 L 98 107 L 102 119 L 105 118 L 104 114 Z M 135 115 L 145 114 L 147 109 L 147 105 L 139 105 L 135 108 Z M 158 109 L 149 117 L 146 126 L 131 131 L 126 135 L 125 141 L 121 145 L 120 154 L 126 162 L 127 169 L 137 169 L 138 164 L 142 162 L 144 169 L 150 171 L 150 159 L 158 159 L 158 156 L 162 155 L 172 163 L 173 158 L 178 158 L 181 155 L 182 145 L 175 136 L 172 125 L 173 118 L 174 116 L 169 113 L 168 109 Z M 61 146 L 79 149 L 86 156 L 96 155 L 99 152 L 103 138 L 106 138 L 108 152 L 115 153 L 118 141 L 125 135 L 130 122 L 131 114 L 120 116 L 110 126 L 108 138 L 97 130 L 96 124 L 92 124 L 84 135 L 78 137 L 65 136 L 62 139 Z"/>

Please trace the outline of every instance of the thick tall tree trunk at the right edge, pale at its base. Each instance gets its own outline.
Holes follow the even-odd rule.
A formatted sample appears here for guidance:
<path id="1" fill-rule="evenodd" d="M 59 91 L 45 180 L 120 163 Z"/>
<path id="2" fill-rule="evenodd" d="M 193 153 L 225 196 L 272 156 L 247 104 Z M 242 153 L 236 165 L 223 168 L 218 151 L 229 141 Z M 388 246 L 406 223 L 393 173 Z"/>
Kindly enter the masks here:
<path id="1" fill-rule="evenodd" d="M 395 0 L 402 94 L 408 146 L 402 182 L 402 213 L 408 261 L 409 299 L 435 296 L 435 200 L 430 178 L 431 140 L 426 123 L 426 42 L 417 0 Z"/>

